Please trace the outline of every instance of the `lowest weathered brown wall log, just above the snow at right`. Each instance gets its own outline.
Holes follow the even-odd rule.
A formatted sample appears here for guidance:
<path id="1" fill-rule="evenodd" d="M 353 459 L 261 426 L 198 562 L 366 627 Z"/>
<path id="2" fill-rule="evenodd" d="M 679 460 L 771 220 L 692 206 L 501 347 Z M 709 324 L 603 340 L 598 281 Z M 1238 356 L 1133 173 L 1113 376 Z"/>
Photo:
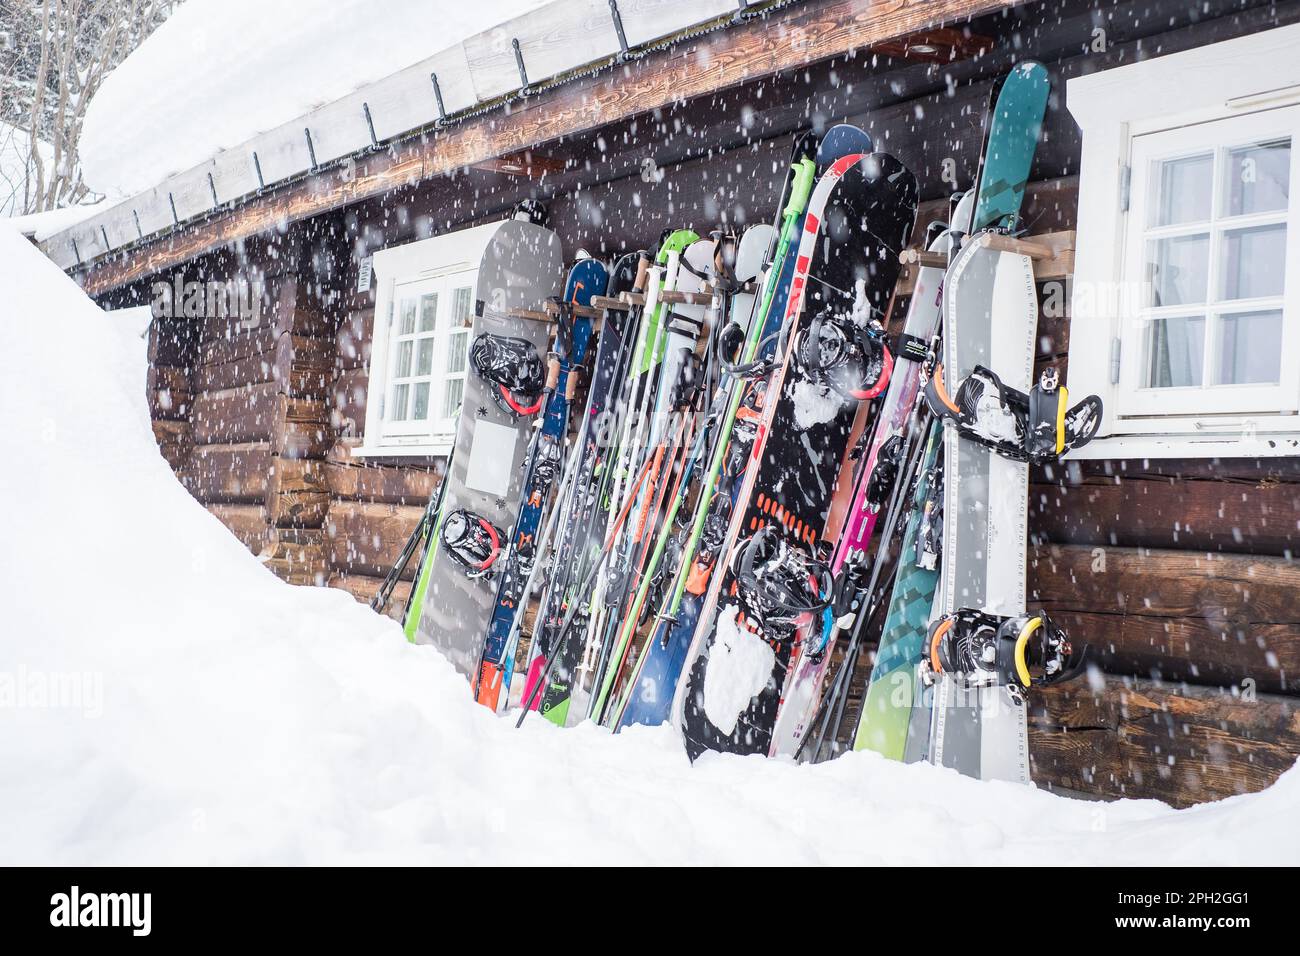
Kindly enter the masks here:
<path id="1" fill-rule="evenodd" d="M 1191 806 L 1270 786 L 1300 753 L 1290 697 L 1153 680 L 1076 680 L 1031 700 L 1035 783 Z"/>

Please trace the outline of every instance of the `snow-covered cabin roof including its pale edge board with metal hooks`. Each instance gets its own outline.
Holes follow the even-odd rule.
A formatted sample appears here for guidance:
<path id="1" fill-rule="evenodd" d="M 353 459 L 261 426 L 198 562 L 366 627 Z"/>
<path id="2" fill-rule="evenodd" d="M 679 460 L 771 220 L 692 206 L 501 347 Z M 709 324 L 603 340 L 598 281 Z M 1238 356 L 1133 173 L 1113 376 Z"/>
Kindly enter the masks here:
<path id="1" fill-rule="evenodd" d="M 738 0 L 190 0 L 108 77 L 86 118 L 86 182 L 124 202 L 42 248 L 74 268 L 737 9 Z M 502 17 L 512 18 L 484 29 Z"/>

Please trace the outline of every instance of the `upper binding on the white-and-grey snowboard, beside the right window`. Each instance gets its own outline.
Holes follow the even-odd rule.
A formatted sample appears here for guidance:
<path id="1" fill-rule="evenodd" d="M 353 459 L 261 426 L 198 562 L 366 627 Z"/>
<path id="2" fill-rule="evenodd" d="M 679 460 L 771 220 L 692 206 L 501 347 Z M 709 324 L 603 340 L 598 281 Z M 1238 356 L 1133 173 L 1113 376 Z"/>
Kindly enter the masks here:
<path id="1" fill-rule="evenodd" d="M 950 397 L 944 367 L 926 382 L 926 403 L 957 431 L 1004 458 L 1043 464 L 1083 447 L 1101 428 L 1101 399 L 1088 395 L 1072 408 L 1060 372 L 1043 372 L 1028 394 L 1006 385 L 992 369 L 976 365 Z"/>

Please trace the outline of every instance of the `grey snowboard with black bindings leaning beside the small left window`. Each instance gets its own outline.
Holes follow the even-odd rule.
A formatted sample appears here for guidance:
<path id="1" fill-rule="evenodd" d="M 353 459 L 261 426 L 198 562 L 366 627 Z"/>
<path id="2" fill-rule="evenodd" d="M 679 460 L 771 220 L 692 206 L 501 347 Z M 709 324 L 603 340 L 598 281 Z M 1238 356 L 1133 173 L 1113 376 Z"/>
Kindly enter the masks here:
<path id="1" fill-rule="evenodd" d="M 536 310 L 558 291 L 564 263 L 559 238 L 549 229 L 507 220 L 497 225 L 478 264 L 469 343 L 497 336 L 541 367 L 550 324 L 512 312 Z M 465 377 L 451 464 L 432 540 L 407 613 L 407 637 L 441 650 L 465 678 L 478 671 L 484 632 L 495 601 L 494 564 L 506 544 L 523 488 L 523 463 L 540 407 L 533 394 L 512 393 L 480 373 L 473 362 Z M 497 548 L 473 567 L 446 546 L 451 531 L 471 533 Z M 459 540 L 459 538 L 458 538 Z"/>

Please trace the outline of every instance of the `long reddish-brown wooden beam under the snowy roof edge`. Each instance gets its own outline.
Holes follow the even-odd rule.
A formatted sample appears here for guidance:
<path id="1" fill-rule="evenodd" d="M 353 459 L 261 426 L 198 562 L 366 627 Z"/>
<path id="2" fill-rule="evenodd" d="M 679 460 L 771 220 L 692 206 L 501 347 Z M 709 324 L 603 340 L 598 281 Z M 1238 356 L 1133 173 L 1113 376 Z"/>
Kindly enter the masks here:
<path id="1" fill-rule="evenodd" d="M 503 111 L 415 135 L 390 150 L 273 189 L 235 208 L 79 273 L 91 295 L 221 246 L 338 209 L 421 179 L 576 135 L 681 100 L 798 69 L 1023 0 L 826 0 L 777 9 L 731 29 L 682 39 L 642 59 L 581 77 Z"/>

